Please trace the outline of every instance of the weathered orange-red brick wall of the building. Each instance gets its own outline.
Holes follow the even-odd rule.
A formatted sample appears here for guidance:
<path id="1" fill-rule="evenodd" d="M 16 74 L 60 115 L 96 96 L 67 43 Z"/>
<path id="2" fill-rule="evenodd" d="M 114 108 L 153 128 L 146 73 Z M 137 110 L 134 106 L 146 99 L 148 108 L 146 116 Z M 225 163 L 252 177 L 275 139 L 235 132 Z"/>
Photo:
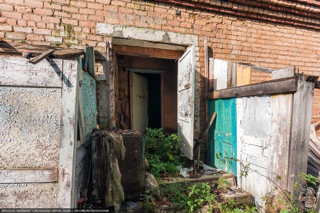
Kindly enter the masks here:
<path id="1" fill-rule="evenodd" d="M 204 74 L 204 38 L 210 57 L 251 63 L 270 68 L 296 65 L 300 72 L 320 75 L 319 31 L 292 27 L 228 14 L 184 8 L 143 0 L 0 0 L 0 37 L 11 41 L 81 48 L 85 43 L 104 49 L 104 38 L 96 34 L 98 22 L 148 27 L 199 36 L 200 75 Z M 175 14 L 180 9 L 181 15 Z M 253 72 L 252 82 L 268 79 Z M 196 78 L 200 95 L 203 78 Z M 106 120 L 104 85 L 98 88 L 98 115 Z M 316 91 L 313 122 L 320 118 L 320 93 Z M 200 127 L 205 122 L 201 98 Z"/>

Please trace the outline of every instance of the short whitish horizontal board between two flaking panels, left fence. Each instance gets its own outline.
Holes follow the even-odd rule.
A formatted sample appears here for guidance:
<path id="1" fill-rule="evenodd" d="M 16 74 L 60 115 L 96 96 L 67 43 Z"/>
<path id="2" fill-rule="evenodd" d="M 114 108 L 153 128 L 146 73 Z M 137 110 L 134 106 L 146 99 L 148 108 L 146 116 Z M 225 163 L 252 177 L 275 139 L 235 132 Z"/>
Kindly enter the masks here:
<path id="1" fill-rule="evenodd" d="M 4 183 L 52 183 L 58 180 L 57 168 L 0 169 L 0 184 Z"/>

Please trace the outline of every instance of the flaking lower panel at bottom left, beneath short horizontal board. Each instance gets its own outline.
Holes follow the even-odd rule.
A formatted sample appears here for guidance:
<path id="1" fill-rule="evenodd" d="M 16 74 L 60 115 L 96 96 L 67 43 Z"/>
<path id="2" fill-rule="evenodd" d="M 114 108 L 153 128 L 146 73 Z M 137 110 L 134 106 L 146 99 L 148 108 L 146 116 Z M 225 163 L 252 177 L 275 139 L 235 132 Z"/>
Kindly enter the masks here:
<path id="1" fill-rule="evenodd" d="M 57 183 L 0 184 L 1 208 L 55 208 Z"/>

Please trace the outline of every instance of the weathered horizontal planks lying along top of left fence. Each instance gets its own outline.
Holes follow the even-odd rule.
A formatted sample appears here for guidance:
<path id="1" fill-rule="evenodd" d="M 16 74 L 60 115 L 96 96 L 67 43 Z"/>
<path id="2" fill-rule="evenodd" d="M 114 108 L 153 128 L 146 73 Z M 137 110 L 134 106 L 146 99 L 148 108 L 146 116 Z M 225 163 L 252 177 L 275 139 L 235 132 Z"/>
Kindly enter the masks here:
<path id="1" fill-rule="evenodd" d="M 54 53 L 49 57 L 55 59 L 72 59 L 84 54 L 83 50 L 68 47 L 53 47 L 20 42 L 0 42 L 0 55 L 6 56 L 21 56 L 21 53 L 23 53 L 23 55 L 27 55 L 28 53 L 43 53 L 48 49 L 54 49 Z"/>

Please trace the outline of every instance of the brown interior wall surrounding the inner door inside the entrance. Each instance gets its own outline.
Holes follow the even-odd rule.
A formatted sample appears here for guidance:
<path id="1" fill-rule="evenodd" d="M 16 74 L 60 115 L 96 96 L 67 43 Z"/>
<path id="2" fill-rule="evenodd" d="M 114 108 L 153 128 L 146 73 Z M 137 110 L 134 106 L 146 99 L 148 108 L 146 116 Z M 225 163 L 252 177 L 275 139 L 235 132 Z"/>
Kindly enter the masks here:
<path id="1" fill-rule="evenodd" d="M 162 74 L 163 77 L 161 82 L 161 92 L 163 97 L 162 124 L 165 134 L 177 133 L 178 66 L 175 60 L 118 55 L 117 66 L 119 91 L 119 127 L 123 129 L 131 128 L 130 79 L 129 72 L 125 71 L 124 68 L 163 70 L 167 71 L 167 73 Z M 160 101 L 159 106 L 161 107 L 161 95 L 157 97 L 157 95 L 150 93 L 148 96 L 149 99 L 151 98 L 151 101 L 154 104 L 159 103 Z M 158 119 L 161 121 L 161 118 Z"/>

